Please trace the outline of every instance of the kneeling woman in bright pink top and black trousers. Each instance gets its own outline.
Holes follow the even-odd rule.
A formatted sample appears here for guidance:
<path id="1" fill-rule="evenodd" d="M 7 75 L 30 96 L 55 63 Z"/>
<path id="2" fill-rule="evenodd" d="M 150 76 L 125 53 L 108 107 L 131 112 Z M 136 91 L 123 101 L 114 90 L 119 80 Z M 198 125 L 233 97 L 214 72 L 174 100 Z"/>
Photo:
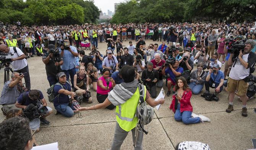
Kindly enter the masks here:
<path id="1" fill-rule="evenodd" d="M 103 103 L 110 90 L 115 86 L 115 81 L 112 77 L 109 77 L 110 70 L 105 68 L 102 71 L 103 75 L 98 79 L 97 81 L 97 101 L 99 103 Z M 107 82 L 109 85 L 107 85 Z M 106 107 L 107 109 L 114 109 L 115 106 L 113 104 L 110 104 Z"/>

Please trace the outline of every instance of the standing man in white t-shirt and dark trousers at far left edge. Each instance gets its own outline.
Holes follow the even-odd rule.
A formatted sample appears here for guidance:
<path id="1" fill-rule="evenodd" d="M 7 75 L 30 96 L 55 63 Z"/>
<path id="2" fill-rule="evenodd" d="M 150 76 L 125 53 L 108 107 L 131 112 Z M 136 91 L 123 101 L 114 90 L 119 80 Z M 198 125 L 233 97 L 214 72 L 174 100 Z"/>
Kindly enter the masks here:
<path id="1" fill-rule="evenodd" d="M 0 45 L 0 51 L 4 53 L 11 53 L 11 66 L 13 70 L 24 74 L 26 88 L 30 89 L 30 76 L 28 69 L 28 62 L 26 56 L 18 47 L 7 47 L 5 44 Z M 9 64 L 8 64 L 9 65 Z"/>

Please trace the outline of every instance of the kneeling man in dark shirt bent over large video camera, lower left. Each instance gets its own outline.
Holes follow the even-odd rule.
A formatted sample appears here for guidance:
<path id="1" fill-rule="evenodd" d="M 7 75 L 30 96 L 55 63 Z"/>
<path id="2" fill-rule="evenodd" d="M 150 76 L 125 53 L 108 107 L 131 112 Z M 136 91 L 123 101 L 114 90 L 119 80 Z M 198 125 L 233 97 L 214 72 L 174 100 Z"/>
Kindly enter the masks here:
<path id="1" fill-rule="evenodd" d="M 50 122 L 45 118 L 52 114 L 52 108 L 47 106 L 41 91 L 30 90 L 21 93 L 15 105 L 23 109 L 23 114 L 30 120 L 31 129 L 38 129 L 40 122 L 44 125 L 50 125 Z"/>

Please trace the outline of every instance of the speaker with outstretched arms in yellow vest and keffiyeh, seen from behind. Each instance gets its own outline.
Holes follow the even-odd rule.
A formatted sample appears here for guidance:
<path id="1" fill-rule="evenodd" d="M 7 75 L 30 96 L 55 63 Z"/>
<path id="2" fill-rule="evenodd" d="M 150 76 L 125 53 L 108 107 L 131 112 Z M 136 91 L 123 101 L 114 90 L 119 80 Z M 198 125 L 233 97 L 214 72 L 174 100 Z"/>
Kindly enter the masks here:
<path id="1" fill-rule="evenodd" d="M 139 101 L 139 82 L 135 79 L 135 69 L 133 66 L 125 65 L 120 70 L 119 74 L 121 74 L 125 83 L 117 84 L 110 91 L 109 96 L 105 99 L 103 103 L 91 106 L 91 107 L 80 107 L 76 106 L 76 111 L 88 111 L 88 110 L 95 110 L 100 108 L 105 108 L 110 104 L 116 106 L 116 128 L 115 128 L 115 135 L 111 145 L 112 150 L 119 150 L 123 141 L 125 140 L 126 136 L 128 135 L 129 131 L 132 131 L 133 141 L 136 140 L 135 149 L 141 150 L 142 149 L 142 142 L 143 142 L 143 131 L 136 131 L 136 125 L 138 123 L 138 117 L 135 115 L 136 108 Z M 110 80 L 113 80 L 110 78 Z M 104 87 L 108 88 L 108 87 Z M 146 87 L 143 86 L 143 98 L 151 107 L 157 106 L 158 104 L 164 104 L 164 99 L 160 98 L 157 101 L 154 101 L 151 97 L 149 92 L 146 90 Z M 122 115 L 121 115 L 122 114 Z M 128 149 L 131 149 L 128 148 Z"/>

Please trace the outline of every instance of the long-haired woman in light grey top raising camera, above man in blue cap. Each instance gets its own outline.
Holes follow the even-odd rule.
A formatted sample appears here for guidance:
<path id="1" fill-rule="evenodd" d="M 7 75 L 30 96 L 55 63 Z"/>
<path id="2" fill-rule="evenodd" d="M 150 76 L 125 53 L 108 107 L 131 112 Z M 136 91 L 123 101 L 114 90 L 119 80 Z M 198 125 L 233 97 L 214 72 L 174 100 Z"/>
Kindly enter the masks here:
<path id="1" fill-rule="evenodd" d="M 194 57 L 194 60 L 197 59 L 198 60 L 198 64 L 199 63 L 203 63 L 204 64 L 204 69 L 207 68 L 207 61 L 208 61 L 208 58 L 209 58 L 209 55 L 207 54 L 207 51 L 208 51 L 208 48 L 207 46 L 204 46 L 202 47 L 202 49 L 200 51 L 198 51 L 196 53 L 196 56 Z"/>

